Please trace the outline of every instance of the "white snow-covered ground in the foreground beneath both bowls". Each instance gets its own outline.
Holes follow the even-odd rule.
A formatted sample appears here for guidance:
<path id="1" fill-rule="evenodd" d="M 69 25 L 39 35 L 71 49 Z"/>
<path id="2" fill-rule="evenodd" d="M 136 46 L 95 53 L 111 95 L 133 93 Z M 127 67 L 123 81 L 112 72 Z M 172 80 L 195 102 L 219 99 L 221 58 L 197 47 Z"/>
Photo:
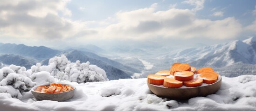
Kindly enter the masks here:
<path id="1" fill-rule="evenodd" d="M 256 75 L 222 76 L 220 90 L 207 97 L 172 100 L 150 92 L 146 79 L 120 79 L 77 84 L 75 96 L 63 102 L 22 99 L 0 93 L 0 111 L 256 111 Z"/>

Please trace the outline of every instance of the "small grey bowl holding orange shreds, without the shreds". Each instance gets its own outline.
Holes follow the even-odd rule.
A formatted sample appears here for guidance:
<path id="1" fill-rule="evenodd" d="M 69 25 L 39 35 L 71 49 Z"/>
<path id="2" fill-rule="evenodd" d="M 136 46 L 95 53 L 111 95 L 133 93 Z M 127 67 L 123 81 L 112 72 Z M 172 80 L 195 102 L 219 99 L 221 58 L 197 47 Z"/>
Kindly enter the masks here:
<path id="1" fill-rule="evenodd" d="M 50 84 L 47 84 L 45 86 L 49 86 Z M 61 85 L 69 85 L 69 84 L 62 84 Z M 40 85 L 43 86 L 43 85 Z M 35 89 L 38 86 L 35 86 L 31 89 L 31 93 L 34 95 L 34 97 L 38 100 L 52 100 L 52 101 L 64 101 L 67 99 L 70 99 L 74 96 L 75 94 L 75 86 L 69 85 L 71 86 L 73 89 L 67 92 L 63 92 L 63 93 L 38 93 L 35 92 Z"/>

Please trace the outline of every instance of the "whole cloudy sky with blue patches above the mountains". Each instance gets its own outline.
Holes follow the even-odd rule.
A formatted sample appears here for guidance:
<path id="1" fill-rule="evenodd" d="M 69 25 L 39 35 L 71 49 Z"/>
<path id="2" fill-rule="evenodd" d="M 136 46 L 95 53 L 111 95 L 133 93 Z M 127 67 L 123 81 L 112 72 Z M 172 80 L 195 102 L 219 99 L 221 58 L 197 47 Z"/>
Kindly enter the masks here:
<path id="1" fill-rule="evenodd" d="M 194 46 L 256 36 L 256 0 L 1 0 L 0 42 Z"/>

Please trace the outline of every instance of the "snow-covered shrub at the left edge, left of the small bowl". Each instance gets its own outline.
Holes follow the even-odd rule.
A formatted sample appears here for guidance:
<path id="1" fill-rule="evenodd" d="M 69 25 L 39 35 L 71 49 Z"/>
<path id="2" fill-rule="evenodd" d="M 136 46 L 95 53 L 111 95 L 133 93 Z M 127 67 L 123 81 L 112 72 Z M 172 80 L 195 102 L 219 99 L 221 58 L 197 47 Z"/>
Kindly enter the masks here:
<path id="1" fill-rule="evenodd" d="M 0 69 L 0 93 L 10 93 L 21 99 L 21 93 L 28 92 L 36 85 L 29 77 L 25 67 L 10 65 Z"/>

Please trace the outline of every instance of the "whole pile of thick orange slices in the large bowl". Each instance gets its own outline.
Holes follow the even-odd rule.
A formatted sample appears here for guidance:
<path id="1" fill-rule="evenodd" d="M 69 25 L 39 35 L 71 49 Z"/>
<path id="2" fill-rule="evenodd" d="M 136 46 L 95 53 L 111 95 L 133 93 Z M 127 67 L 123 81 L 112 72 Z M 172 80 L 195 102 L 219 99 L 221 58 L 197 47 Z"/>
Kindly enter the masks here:
<path id="1" fill-rule="evenodd" d="M 194 74 L 197 76 L 194 77 Z M 173 77 L 174 76 L 174 77 Z M 197 87 L 203 83 L 212 84 L 218 80 L 218 73 L 213 68 L 200 68 L 190 66 L 188 63 L 173 63 L 170 70 L 162 70 L 156 74 L 149 74 L 147 80 L 153 85 L 163 85 L 168 88 L 181 86 Z"/>

